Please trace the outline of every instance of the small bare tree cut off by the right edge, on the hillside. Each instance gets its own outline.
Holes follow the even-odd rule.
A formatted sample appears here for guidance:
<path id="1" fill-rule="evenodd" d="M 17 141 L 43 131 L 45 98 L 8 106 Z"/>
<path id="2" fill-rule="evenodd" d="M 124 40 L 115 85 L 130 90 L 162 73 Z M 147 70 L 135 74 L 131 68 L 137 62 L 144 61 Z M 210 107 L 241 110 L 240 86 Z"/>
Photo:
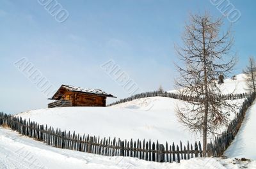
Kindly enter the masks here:
<path id="1" fill-rule="evenodd" d="M 243 73 L 246 75 L 247 91 L 256 92 L 256 63 L 252 56 L 249 57 L 249 64 Z"/>

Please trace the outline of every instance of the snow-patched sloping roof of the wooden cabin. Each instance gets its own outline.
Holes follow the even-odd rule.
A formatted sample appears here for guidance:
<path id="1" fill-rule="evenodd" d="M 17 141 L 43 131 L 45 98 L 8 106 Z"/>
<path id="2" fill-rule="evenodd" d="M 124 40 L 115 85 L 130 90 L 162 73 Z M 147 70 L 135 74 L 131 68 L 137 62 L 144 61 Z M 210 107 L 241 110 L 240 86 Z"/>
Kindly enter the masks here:
<path id="1" fill-rule="evenodd" d="M 113 96 L 112 94 L 104 92 L 100 89 L 89 89 L 89 88 L 84 88 L 84 87 L 76 87 L 74 85 L 61 85 L 60 89 L 58 89 L 58 91 L 52 96 L 51 99 L 58 98 L 58 96 L 61 95 L 61 92 L 60 92 L 61 89 L 66 89 L 67 91 L 83 92 L 83 93 L 88 93 L 88 94 L 97 94 L 100 96 L 115 98 L 115 96 Z"/>

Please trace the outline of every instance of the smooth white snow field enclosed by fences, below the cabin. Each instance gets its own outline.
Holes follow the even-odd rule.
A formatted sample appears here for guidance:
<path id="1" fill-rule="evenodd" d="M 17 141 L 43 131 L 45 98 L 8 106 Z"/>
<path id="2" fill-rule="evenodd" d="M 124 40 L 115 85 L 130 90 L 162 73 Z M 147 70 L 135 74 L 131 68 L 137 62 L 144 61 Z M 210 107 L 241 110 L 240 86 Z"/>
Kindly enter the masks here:
<path id="1" fill-rule="evenodd" d="M 241 105 L 244 99 L 232 101 Z M 151 139 L 160 143 L 195 143 L 201 141 L 184 126 L 175 115 L 175 107 L 184 101 L 172 98 L 142 98 L 113 107 L 63 107 L 31 110 L 19 114 L 22 118 L 47 124 L 54 128 L 76 131 L 100 137 L 121 140 Z M 51 118 L 49 118 L 51 117 Z M 233 116 L 234 117 L 234 114 Z"/>

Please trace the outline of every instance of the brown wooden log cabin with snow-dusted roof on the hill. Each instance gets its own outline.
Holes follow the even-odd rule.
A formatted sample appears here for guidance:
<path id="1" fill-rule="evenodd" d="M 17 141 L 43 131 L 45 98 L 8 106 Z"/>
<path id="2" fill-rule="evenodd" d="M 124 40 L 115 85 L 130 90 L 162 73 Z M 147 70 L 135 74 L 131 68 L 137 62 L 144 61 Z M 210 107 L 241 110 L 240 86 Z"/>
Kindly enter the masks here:
<path id="1" fill-rule="evenodd" d="M 60 89 L 52 96 L 52 107 L 106 107 L 106 98 L 116 98 L 100 89 L 86 89 L 72 85 L 61 85 Z"/>

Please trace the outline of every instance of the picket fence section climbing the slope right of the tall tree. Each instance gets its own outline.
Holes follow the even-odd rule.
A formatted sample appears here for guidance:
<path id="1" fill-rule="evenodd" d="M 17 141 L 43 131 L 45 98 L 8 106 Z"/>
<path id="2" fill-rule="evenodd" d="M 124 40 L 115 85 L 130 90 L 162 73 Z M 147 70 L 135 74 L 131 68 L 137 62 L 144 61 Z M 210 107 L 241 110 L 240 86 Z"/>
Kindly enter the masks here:
<path id="1" fill-rule="evenodd" d="M 227 130 L 216 136 L 213 142 L 207 145 L 208 156 L 221 156 L 223 152 L 227 150 L 228 146 L 232 143 L 235 136 L 237 135 L 239 128 L 244 120 L 244 116 L 248 108 L 252 105 L 256 98 L 256 94 L 253 92 L 249 98 L 247 98 L 236 117 L 230 122 Z"/>

